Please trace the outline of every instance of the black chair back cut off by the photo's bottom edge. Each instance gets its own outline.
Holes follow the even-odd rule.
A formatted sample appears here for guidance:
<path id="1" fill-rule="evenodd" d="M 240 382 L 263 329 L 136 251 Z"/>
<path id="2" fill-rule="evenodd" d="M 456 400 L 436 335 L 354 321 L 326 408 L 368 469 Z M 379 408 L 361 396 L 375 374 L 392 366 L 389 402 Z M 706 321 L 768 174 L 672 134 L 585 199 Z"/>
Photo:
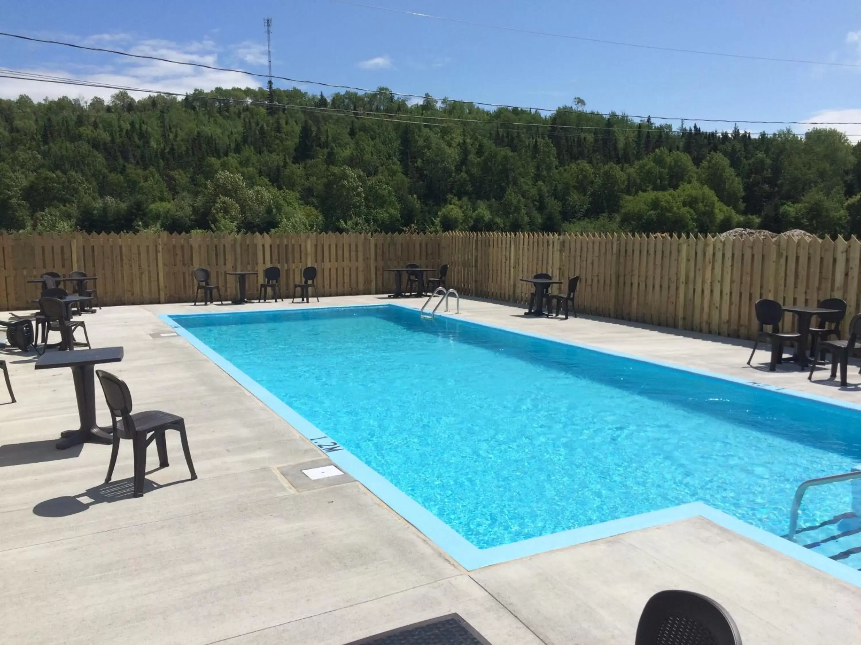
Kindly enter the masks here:
<path id="1" fill-rule="evenodd" d="M 714 600 L 667 590 L 643 607 L 635 645 L 741 645 L 741 636 L 733 617 Z"/>

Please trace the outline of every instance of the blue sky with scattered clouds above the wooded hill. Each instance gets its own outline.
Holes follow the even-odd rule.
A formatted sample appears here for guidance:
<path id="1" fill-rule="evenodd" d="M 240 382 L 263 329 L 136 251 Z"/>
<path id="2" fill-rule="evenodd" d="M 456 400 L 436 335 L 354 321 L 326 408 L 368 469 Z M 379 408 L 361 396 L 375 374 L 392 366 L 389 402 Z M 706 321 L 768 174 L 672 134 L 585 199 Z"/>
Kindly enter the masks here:
<path id="1" fill-rule="evenodd" d="M 861 64 L 861 3 L 365 0 L 369 4 L 597 39 Z M 692 119 L 861 121 L 861 67 L 657 52 L 517 34 L 330 0 L 117 3 L 0 0 L 0 30 L 265 71 L 263 17 L 276 74 L 531 107 L 581 96 L 602 112 Z M 143 63 L 0 39 L 0 67 L 187 91 L 253 84 L 228 72 Z M 279 83 L 282 84 L 282 83 Z M 308 91 L 319 91 L 313 85 Z M 327 93 L 331 90 L 325 90 Z M 98 90 L 0 79 L 0 96 Z M 102 95 L 110 91 L 102 90 Z M 776 126 L 754 129 L 772 130 Z M 861 126 L 845 126 L 861 135 Z M 861 136 L 853 137 L 854 139 Z"/>

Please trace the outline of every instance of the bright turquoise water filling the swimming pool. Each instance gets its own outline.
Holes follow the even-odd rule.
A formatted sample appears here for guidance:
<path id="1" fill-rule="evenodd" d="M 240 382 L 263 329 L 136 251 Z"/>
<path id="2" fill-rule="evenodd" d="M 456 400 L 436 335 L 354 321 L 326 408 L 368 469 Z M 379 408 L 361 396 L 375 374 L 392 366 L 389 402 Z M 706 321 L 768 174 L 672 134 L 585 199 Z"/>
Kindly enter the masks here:
<path id="1" fill-rule="evenodd" d="M 449 316 L 171 317 L 480 549 L 691 501 L 780 535 L 861 462 L 856 410 Z"/>

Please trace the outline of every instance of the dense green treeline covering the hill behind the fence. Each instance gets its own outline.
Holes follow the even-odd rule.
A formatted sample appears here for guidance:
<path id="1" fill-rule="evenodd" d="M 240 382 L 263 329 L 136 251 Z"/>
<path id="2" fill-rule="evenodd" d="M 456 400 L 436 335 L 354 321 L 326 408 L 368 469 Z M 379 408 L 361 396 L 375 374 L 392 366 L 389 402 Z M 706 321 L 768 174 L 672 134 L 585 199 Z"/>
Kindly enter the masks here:
<path id="1" fill-rule="evenodd" d="M 385 88 L 266 99 L 0 101 L 0 230 L 861 234 L 861 143 L 836 130 L 673 130 L 579 100 L 544 116 Z"/>

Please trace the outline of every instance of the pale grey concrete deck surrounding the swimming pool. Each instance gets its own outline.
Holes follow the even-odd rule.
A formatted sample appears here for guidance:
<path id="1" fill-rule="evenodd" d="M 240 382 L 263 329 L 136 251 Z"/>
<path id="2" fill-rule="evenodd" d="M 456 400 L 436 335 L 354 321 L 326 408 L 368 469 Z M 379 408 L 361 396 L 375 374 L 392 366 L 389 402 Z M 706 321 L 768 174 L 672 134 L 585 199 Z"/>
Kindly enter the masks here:
<path id="1" fill-rule="evenodd" d="M 161 336 L 170 329 L 157 314 L 297 306 L 126 306 L 84 318 L 95 347 L 125 347 L 108 370 L 127 380 L 136 409 L 183 415 L 189 429 L 199 479 L 183 481 L 178 438 L 169 436 L 171 465 L 150 472 L 137 500 L 127 442 L 107 485 L 108 446 L 53 449 L 60 430 L 77 427 L 69 370 L 36 372 L 33 357 L 3 354 L 18 402 L 0 405 L 0 642 L 343 645 L 457 612 L 494 645 L 621 645 L 634 642 L 642 606 L 666 588 L 721 602 L 745 642 L 861 639 L 861 589 L 707 519 L 467 572 L 361 483 L 296 485 L 324 455 L 183 338 Z M 598 318 L 530 319 L 521 307 L 479 300 L 462 300 L 461 310 L 478 322 L 861 402 L 857 372 L 840 389 L 808 383 L 791 364 L 767 372 L 767 351 L 747 367 L 748 342 Z M 100 391 L 96 405 L 104 424 Z"/>

